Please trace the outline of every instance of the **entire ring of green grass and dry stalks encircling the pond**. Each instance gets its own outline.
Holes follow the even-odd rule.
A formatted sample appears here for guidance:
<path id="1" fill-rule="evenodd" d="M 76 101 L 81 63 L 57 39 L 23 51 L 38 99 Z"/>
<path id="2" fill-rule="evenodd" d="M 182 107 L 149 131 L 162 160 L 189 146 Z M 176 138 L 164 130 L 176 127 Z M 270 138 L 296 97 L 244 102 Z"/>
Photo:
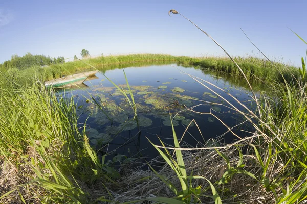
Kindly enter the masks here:
<path id="1" fill-rule="evenodd" d="M 144 55 L 105 57 L 109 60 L 105 64 L 101 63 L 102 58 L 85 62 L 102 65 L 103 70 L 107 64 L 127 62 L 127 59 L 141 61 L 141 56 Z M 143 59 L 156 61 L 154 56 L 148 54 Z M 224 58 L 157 57 L 157 61 L 200 65 L 237 74 Z M 174 131 L 175 154 L 173 149 L 167 152 L 157 147 L 157 151 L 163 150 L 162 156 L 148 161 L 151 165 L 157 165 L 156 161 L 166 162 L 158 172 L 139 170 L 135 166 L 140 163 L 126 160 L 120 161 L 120 169 L 113 168 L 114 162 L 106 162 L 104 156 L 90 148 L 82 132 L 84 126 L 77 123 L 73 100 L 57 98 L 37 82 L 47 79 L 43 73 L 48 70 L 52 77 L 57 77 L 52 70 L 57 70 L 60 76 L 89 68 L 84 63 L 46 67 L 43 72 L 32 68 L 33 74 L 27 77 L 16 70 L 5 71 L 0 76 L 0 202 L 306 203 L 305 80 L 297 75 L 299 86 L 275 83 L 283 82 L 276 75 L 278 70 L 273 70 L 275 66 L 260 59 L 237 60 L 245 71 L 253 70 L 258 78 L 266 80 L 277 96 L 261 96 L 259 112 L 243 113 L 239 111 L 242 107 L 228 104 L 255 127 L 254 135 L 229 145 L 215 142 L 197 150 L 186 149 L 187 146 L 181 146 L 184 149 L 180 150 Z M 283 69 L 286 81 L 287 76 L 291 82 L 291 75 L 297 74 L 294 68 L 275 65 Z M 208 91 L 206 81 L 195 79 Z"/>

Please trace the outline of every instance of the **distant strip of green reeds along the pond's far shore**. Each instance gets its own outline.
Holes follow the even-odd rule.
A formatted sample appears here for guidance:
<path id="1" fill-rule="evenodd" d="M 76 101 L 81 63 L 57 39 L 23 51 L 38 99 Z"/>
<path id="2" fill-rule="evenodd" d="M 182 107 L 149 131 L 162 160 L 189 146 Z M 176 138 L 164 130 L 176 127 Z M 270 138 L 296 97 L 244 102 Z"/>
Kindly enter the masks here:
<path id="1" fill-rule="evenodd" d="M 286 79 L 288 83 L 293 83 L 294 79 L 299 77 L 298 68 L 294 66 L 285 65 L 279 62 L 271 63 L 268 60 L 254 57 L 236 57 L 234 59 L 240 65 L 240 67 L 242 67 L 246 76 L 251 80 L 260 79 L 262 81 L 284 83 L 284 79 Z M 192 58 L 187 56 L 171 56 L 164 54 L 101 56 L 83 59 L 82 61 L 77 60 L 63 64 L 53 64 L 46 67 L 32 67 L 25 70 L 13 68 L 9 70 L 1 70 L 1 72 L 9 71 L 14 74 L 15 78 L 20 78 L 20 80 L 24 83 L 24 81 L 27 81 L 28 79 L 28 81 L 31 81 L 30 79 L 33 77 L 33 75 L 36 75 L 38 79 L 45 81 L 59 78 L 63 75 L 91 69 L 91 66 L 88 64 L 95 66 L 100 71 L 105 71 L 108 69 L 127 67 L 131 65 L 131 63 L 146 62 L 179 63 L 185 66 L 199 66 L 233 75 L 242 75 L 242 73 L 240 73 L 235 64 L 233 64 L 229 58 Z"/>

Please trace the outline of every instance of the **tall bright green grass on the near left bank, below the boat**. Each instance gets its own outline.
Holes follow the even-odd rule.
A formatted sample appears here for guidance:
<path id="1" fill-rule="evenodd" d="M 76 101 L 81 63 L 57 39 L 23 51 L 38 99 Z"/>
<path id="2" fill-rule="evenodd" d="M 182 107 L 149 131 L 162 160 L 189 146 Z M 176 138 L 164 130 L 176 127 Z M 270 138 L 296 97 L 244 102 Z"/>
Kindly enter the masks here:
<path id="1" fill-rule="evenodd" d="M 35 78 L 28 86 L 3 77 L 10 86 L 0 98 L 0 202 L 91 202 L 82 185 L 112 181 L 112 168 L 105 169 L 78 129 L 74 101 Z"/>

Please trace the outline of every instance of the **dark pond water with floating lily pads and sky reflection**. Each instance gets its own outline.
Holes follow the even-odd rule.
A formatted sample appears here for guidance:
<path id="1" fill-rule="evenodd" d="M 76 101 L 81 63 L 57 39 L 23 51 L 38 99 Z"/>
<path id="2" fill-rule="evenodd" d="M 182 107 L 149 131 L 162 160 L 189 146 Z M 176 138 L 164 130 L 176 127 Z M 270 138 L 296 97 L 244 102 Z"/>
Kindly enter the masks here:
<path id="1" fill-rule="evenodd" d="M 76 88 L 69 92 L 66 90 L 65 93 L 68 96 L 74 95 L 79 123 L 86 123 L 87 127 L 91 128 L 88 132 L 90 142 L 102 152 L 111 152 L 120 147 L 116 150 L 117 154 L 142 155 L 146 158 L 157 156 L 157 150 L 148 140 L 161 145 L 160 138 L 166 144 L 173 145 L 169 114 L 178 138 L 182 137 L 192 119 L 199 127 L 192 122 L 181 144 L 202 147 L 210 138 L 222 138 L 226 143 L 237 139 L 231 133 L 224 134 L 228 129 L 208 113 L 211 111 L 229 127 L 241 123 L 243 117 L 226 107 L 229 105 L 225 101 L 182 71 L 211 82 L 235 96 L 247 107 L 253 108 L 251 93 L 246 83 L 232 75 L 176 64 L 145 67 L 138 65 L 124 68 L 124 71 L 133 91 L 139 125 L 134 119 L 134 110 L 127 98 L 105 78 L 106 76 L 116 85 L 121 85 L 131 100 L 122 69 L 105 70 L 105 76 L 99 72 L 97 77 L 86 81 L 82 89 Z M 208 86 L 243 110 L 227 93 Z M 60 93 L 63 93 L 63 90 Z M 93 103 L 91 97 L 99 105 Z M 194 111 L 207 114 L 194 113 L 185 107 L 194 107 Z M 242 124 L 233 131 L 240 137 L 248 136 L 242 129 L 251 130 L 251 127 Z"/>

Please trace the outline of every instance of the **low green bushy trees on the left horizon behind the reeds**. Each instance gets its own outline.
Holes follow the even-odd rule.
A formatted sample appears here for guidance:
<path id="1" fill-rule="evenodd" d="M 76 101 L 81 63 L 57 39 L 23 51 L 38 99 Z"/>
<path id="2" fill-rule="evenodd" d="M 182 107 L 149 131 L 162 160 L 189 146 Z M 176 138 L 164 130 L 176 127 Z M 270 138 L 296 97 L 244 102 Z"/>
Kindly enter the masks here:
<path id="1" fill-rule="evenodd" d="M 20 57 L 18 55 L 12 55 L 11 60 L 7 60 L 0 64 L 0 68 L 9 69 L 9 68 L 17 68 L 17 69 L 26 69 L 32 66 L 48 66 L 51 64 L 59 64 L 64 63 L 65 59 L 62 56 L 58 58 L 52 58 L 45 55 L 32 55 L 31 53 L 27 53 L 26 55 Z"/>

